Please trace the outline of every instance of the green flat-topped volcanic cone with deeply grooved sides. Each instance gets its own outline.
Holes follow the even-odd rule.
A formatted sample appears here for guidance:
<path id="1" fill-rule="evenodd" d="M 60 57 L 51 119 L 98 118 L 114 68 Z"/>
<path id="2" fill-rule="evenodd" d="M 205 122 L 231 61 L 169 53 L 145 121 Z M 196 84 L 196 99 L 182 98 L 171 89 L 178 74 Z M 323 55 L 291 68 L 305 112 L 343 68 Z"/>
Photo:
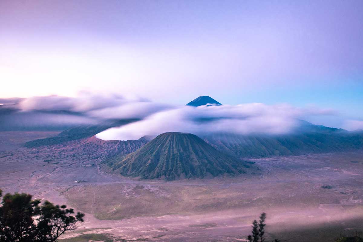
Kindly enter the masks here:
<path id="1" fill-rule="evenodd" d="M 103 170 L 142 179 L 184 179 L 246 173 L 248 163 L 225 155 L 192 134 L 164 133 L 126 156 L 101 163 Z"/>

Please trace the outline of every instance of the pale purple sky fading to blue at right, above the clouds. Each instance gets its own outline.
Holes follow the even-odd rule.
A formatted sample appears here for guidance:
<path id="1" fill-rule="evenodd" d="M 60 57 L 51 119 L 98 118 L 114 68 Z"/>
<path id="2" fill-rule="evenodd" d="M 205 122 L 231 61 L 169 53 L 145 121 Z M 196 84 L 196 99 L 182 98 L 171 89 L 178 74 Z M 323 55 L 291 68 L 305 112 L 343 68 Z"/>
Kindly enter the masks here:
<path id="1" fill-rule="evenodd" d="M 361 0 L 1 0 L 0 97 L 210 95 L 363 120 L 362 43 Z"/>

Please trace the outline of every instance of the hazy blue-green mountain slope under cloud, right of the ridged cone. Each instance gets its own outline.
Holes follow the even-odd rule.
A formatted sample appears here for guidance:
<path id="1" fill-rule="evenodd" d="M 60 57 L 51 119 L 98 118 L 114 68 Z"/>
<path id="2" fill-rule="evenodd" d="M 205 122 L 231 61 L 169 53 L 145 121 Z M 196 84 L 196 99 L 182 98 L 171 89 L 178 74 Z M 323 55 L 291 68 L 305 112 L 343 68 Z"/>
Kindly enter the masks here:
<path id="1" fill-rule="evenodd" d="M 293 133 L 285 135 L 224 133 L 204 135 L 202 138 L 219 151 L 238 158 L 304 155 L 363 148 L 363 132 L 349 132 L 308 122 L 303 122 Z"/>

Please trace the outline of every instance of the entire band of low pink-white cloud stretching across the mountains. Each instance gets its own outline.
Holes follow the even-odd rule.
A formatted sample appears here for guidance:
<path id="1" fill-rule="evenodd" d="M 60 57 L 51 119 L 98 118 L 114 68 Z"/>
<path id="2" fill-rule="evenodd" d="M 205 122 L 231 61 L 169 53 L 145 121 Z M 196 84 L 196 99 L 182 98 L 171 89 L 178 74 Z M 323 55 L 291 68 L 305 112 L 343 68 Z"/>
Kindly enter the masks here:
<path id="1" fill-rule="evenodd" d="M 336 115 L 333 110 L 317 107 L 297 108 L 288 104 L 171 106 L 138 97 L 89 93 L 81 93 L 78 97 L 53 95 L 2 101 L 13 104 L 3 107 L 16 109 L 16 113 L 27 117 L 22 118 L 25 123 L 31 122 L 38 126 L 53 123 L 58 126 L 59 123 L 96 124 L 105 119 L 140 119 L 138 122 L 99 133 L 97 137 L 103 140 L 135 140 L 145 135 L 156 136 L 164 132 L 188 132 L 196 135 L 215 132 L 286 134 L 297 127 L 298 119 Z M 34 115 L 34 112 L 37 115 Z M 45 113 L 46 119 L 39 115 L 39 112 L 43 116 Z M 31 114 L 32 118 L 29 118 L 29 115 L 24 116 L 25 114 Z M 360 127 L 361 123 L 350 122 L 348 126 Z"/>

